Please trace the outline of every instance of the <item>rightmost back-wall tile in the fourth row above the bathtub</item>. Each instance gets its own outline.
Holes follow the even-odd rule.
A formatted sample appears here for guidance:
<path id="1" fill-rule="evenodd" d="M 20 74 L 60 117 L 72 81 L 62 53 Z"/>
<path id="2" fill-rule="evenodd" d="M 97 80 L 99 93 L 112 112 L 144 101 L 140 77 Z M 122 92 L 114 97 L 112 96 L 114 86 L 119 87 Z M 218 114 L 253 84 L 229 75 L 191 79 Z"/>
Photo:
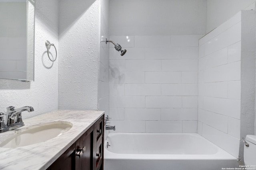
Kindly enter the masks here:
<path id="1" fill-rule="evenodd" d="M 162 96 L 197 96 L 197 84 L 162 84 Z"/>

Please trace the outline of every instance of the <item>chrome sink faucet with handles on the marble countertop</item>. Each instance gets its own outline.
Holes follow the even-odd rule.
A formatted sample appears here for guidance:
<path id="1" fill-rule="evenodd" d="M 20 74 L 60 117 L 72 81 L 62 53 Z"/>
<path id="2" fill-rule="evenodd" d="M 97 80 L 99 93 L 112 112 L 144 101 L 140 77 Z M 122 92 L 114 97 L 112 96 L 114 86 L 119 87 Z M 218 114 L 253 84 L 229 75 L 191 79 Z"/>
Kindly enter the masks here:
<path id="1" fill-rule="evenodd" d="M 31 106 L 20 107 L 18 109 L 15 109 L 13 106 L 7 107 L 6 125 L 4 123 L 4 113 L 0 113 L 0 133 L 24 126 L 25 124 L 22 121 L 21 115 L 22 111 L 30 112 L 34 111 L 34 108 Z"/>

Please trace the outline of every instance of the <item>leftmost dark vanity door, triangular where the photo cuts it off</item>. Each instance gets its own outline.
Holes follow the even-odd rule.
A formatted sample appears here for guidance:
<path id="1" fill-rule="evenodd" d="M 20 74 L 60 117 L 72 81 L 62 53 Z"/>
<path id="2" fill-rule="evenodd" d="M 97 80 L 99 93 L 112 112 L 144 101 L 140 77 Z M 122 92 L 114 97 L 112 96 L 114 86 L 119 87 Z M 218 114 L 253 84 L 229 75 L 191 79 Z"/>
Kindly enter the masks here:
<path id="1" fill-rule="evenodd" d="M 47 170 L 74 170 L 76 166 L 76 144 L 68 148 Z"/>

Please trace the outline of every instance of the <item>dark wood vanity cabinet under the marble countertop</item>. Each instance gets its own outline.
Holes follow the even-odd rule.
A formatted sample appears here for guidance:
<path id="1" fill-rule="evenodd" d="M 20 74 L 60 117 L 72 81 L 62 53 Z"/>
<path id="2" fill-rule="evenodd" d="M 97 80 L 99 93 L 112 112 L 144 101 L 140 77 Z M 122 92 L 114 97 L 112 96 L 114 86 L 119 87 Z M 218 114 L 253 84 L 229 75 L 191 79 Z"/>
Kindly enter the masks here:
<path id="1" fill-rule="evenodd" d="M 104 115 L 47 170 L 103 170 L 103 148 Z"/>

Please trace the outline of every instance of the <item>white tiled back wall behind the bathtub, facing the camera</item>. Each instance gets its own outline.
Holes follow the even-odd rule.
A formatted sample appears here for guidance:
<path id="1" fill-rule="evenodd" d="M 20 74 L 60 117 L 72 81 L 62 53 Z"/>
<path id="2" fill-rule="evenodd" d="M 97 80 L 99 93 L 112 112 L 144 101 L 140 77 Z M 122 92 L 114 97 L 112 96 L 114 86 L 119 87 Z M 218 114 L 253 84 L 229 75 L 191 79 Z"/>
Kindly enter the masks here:
<path id="1" fill-rule="evenodd" d="M 111 125 L 116 132 L 196 133 L 198 39 L 202 35 L 110 36 Z"/>

